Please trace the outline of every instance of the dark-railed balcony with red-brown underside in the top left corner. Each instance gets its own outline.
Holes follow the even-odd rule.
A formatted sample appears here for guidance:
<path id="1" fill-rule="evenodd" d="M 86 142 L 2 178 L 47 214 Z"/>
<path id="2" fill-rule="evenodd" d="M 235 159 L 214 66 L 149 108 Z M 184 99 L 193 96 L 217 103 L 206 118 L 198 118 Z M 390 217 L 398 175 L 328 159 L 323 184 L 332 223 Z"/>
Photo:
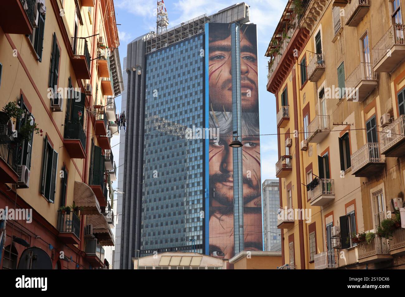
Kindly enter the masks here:
<path id="1" fill-rule="evenodd" d="M 26 3 L 27 10 L 24 9 Z M 0 10 L 0 26 L 5 34 L 31 35 L 36 0 L 8 0 Z"/>

